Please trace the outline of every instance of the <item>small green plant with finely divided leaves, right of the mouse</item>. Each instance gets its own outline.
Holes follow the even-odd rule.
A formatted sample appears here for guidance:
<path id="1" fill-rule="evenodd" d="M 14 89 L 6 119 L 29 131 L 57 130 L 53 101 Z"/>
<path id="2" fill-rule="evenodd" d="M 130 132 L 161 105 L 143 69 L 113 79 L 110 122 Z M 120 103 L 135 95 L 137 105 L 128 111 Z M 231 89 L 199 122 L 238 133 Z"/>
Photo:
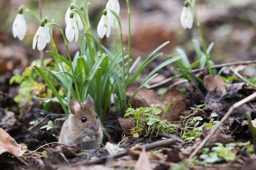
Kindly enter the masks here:
<path id="1" fill-rule="evenodd" d="M 158 116 L 158 114 L 162 112 L 159 109 L 160 105 L 152 104 L 150 107 L 140 107 L 136 110 L 130 106 L 125 112 L 125 117 L 129 117 L 135 123 L 135 127 L 131 128 L 131 134 L 134 137 L 139 137 L 143 133 L 149 132 L 153 134 L 154 131 L 157 131 L 156 136 L 159 131 L 163 133 L 175 132 L 178 129 L 178 126 L 163 119 L 170 105 L 171 103 L 164 108 L 164 113 L 161 116 Z"/>

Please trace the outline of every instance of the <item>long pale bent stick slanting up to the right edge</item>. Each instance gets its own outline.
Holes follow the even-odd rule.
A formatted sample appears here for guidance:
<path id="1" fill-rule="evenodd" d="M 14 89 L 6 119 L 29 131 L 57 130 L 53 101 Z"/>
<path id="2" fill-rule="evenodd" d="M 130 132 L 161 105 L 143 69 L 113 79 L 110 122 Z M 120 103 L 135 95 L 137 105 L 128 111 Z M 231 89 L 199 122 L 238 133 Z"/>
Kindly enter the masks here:
<path id="1" fill-rule="evenodd" d="M 256 98 L 256 93 L 251 94 L 250 96 L 247 96 L 246 98 L 242 99 L 239 102 L 236 102 L 234 105 L 231 106 L 231 108 L 229 109 L 229 111 L 225 114 L 225 116 L 221 119 L 221 122 L 215 126 L 215 128 L 213 128 L 210 133 L 206 136 L 206 138 L 203 140 L 202 144 L 200 144 L 189 156 L 189 158 L 193 158 L 199 150 L 201 150 L 202 147 L 204 147 L 204 145 L 207 142 L 207 139 L 209 139 L 212 135 L 214 135 L 216 133 L 216 131 L 218 130 L 218 128 L 221 126 L 222 123 L 224 123 L 227 118 L 233 113 L 233 111 L 238 108 L 239 106 L 249 102 L 252 99 Z"/>

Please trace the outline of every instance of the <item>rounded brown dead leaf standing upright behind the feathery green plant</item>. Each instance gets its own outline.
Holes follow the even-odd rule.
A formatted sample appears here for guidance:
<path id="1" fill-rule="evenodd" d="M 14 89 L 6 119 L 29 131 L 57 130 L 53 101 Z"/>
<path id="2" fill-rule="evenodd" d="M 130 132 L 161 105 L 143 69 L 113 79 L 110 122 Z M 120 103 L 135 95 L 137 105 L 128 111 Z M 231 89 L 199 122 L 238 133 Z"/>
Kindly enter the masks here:
<path id="1" fill-rule="evenodd" d="M 169 110 L 163 117 L 168 121 L 175 121 L 183 111 L 186 111 L 186 96 L 177 89 L 169 89 L 163 96 L 163 105 L 166 107 L 171 102 Z"/>

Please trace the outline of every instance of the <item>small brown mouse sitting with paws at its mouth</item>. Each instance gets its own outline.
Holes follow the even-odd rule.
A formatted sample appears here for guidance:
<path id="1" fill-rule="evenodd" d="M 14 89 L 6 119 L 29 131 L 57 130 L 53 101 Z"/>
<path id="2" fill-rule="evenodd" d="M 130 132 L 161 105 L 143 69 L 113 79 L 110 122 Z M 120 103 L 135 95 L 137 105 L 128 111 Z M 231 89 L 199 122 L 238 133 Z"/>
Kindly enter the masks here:
<path id="1" fill-rule="evenodd" d="M 90 94 L 81 103 L 78 99 L 69 102 L 70 115 L 61 127 L 58 142 L 70 145 L 80 144 L 82 150 L 99 148 L 102 143 L 102 124 L 94 110 Z"/>

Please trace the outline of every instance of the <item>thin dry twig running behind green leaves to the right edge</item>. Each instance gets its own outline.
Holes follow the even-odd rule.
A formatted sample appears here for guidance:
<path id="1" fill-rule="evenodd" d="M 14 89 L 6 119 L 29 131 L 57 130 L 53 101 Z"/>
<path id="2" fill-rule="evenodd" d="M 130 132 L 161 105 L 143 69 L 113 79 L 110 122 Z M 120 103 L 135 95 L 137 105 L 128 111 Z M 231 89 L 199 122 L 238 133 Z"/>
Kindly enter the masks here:
<path id="1" fill-rule="evenodd" d="M 225 67 L 225 66 L 231 66 L 231 65 L 247 65 L 247 64 L 253 64 L 253 63 L 256 63 L 256 60 L 251 60 L 251 61 L 238 61 L 238 62 L 230 62 L 230 63 L 225 63 L 225 64 L 219 64 L 219 65 L 214 65 L 212 66 L 211 68 L 221 68 L 221 67 Z M 198 69 L 194 69 L 194 70 L 191 70 L 190 72 L 191 73 L 196 73 L 196 72 L 199 72 L 199 71 L 203 71 L 203 70 L 206 70 L 206 68 L 198 68 Z M 154 88 L 157 88 L 157 87 L 160 87 L 160 86 L 163 86 L 165 84 L 167 84 L 168 82 L 170 82 L 172 80 L 172 77 L 168 78 L 168 79 L 165 79 L 161 82 L 158 82 L 154 85 L 151 85 L 148 87 L 148 89 L 154 89 Z"/>

